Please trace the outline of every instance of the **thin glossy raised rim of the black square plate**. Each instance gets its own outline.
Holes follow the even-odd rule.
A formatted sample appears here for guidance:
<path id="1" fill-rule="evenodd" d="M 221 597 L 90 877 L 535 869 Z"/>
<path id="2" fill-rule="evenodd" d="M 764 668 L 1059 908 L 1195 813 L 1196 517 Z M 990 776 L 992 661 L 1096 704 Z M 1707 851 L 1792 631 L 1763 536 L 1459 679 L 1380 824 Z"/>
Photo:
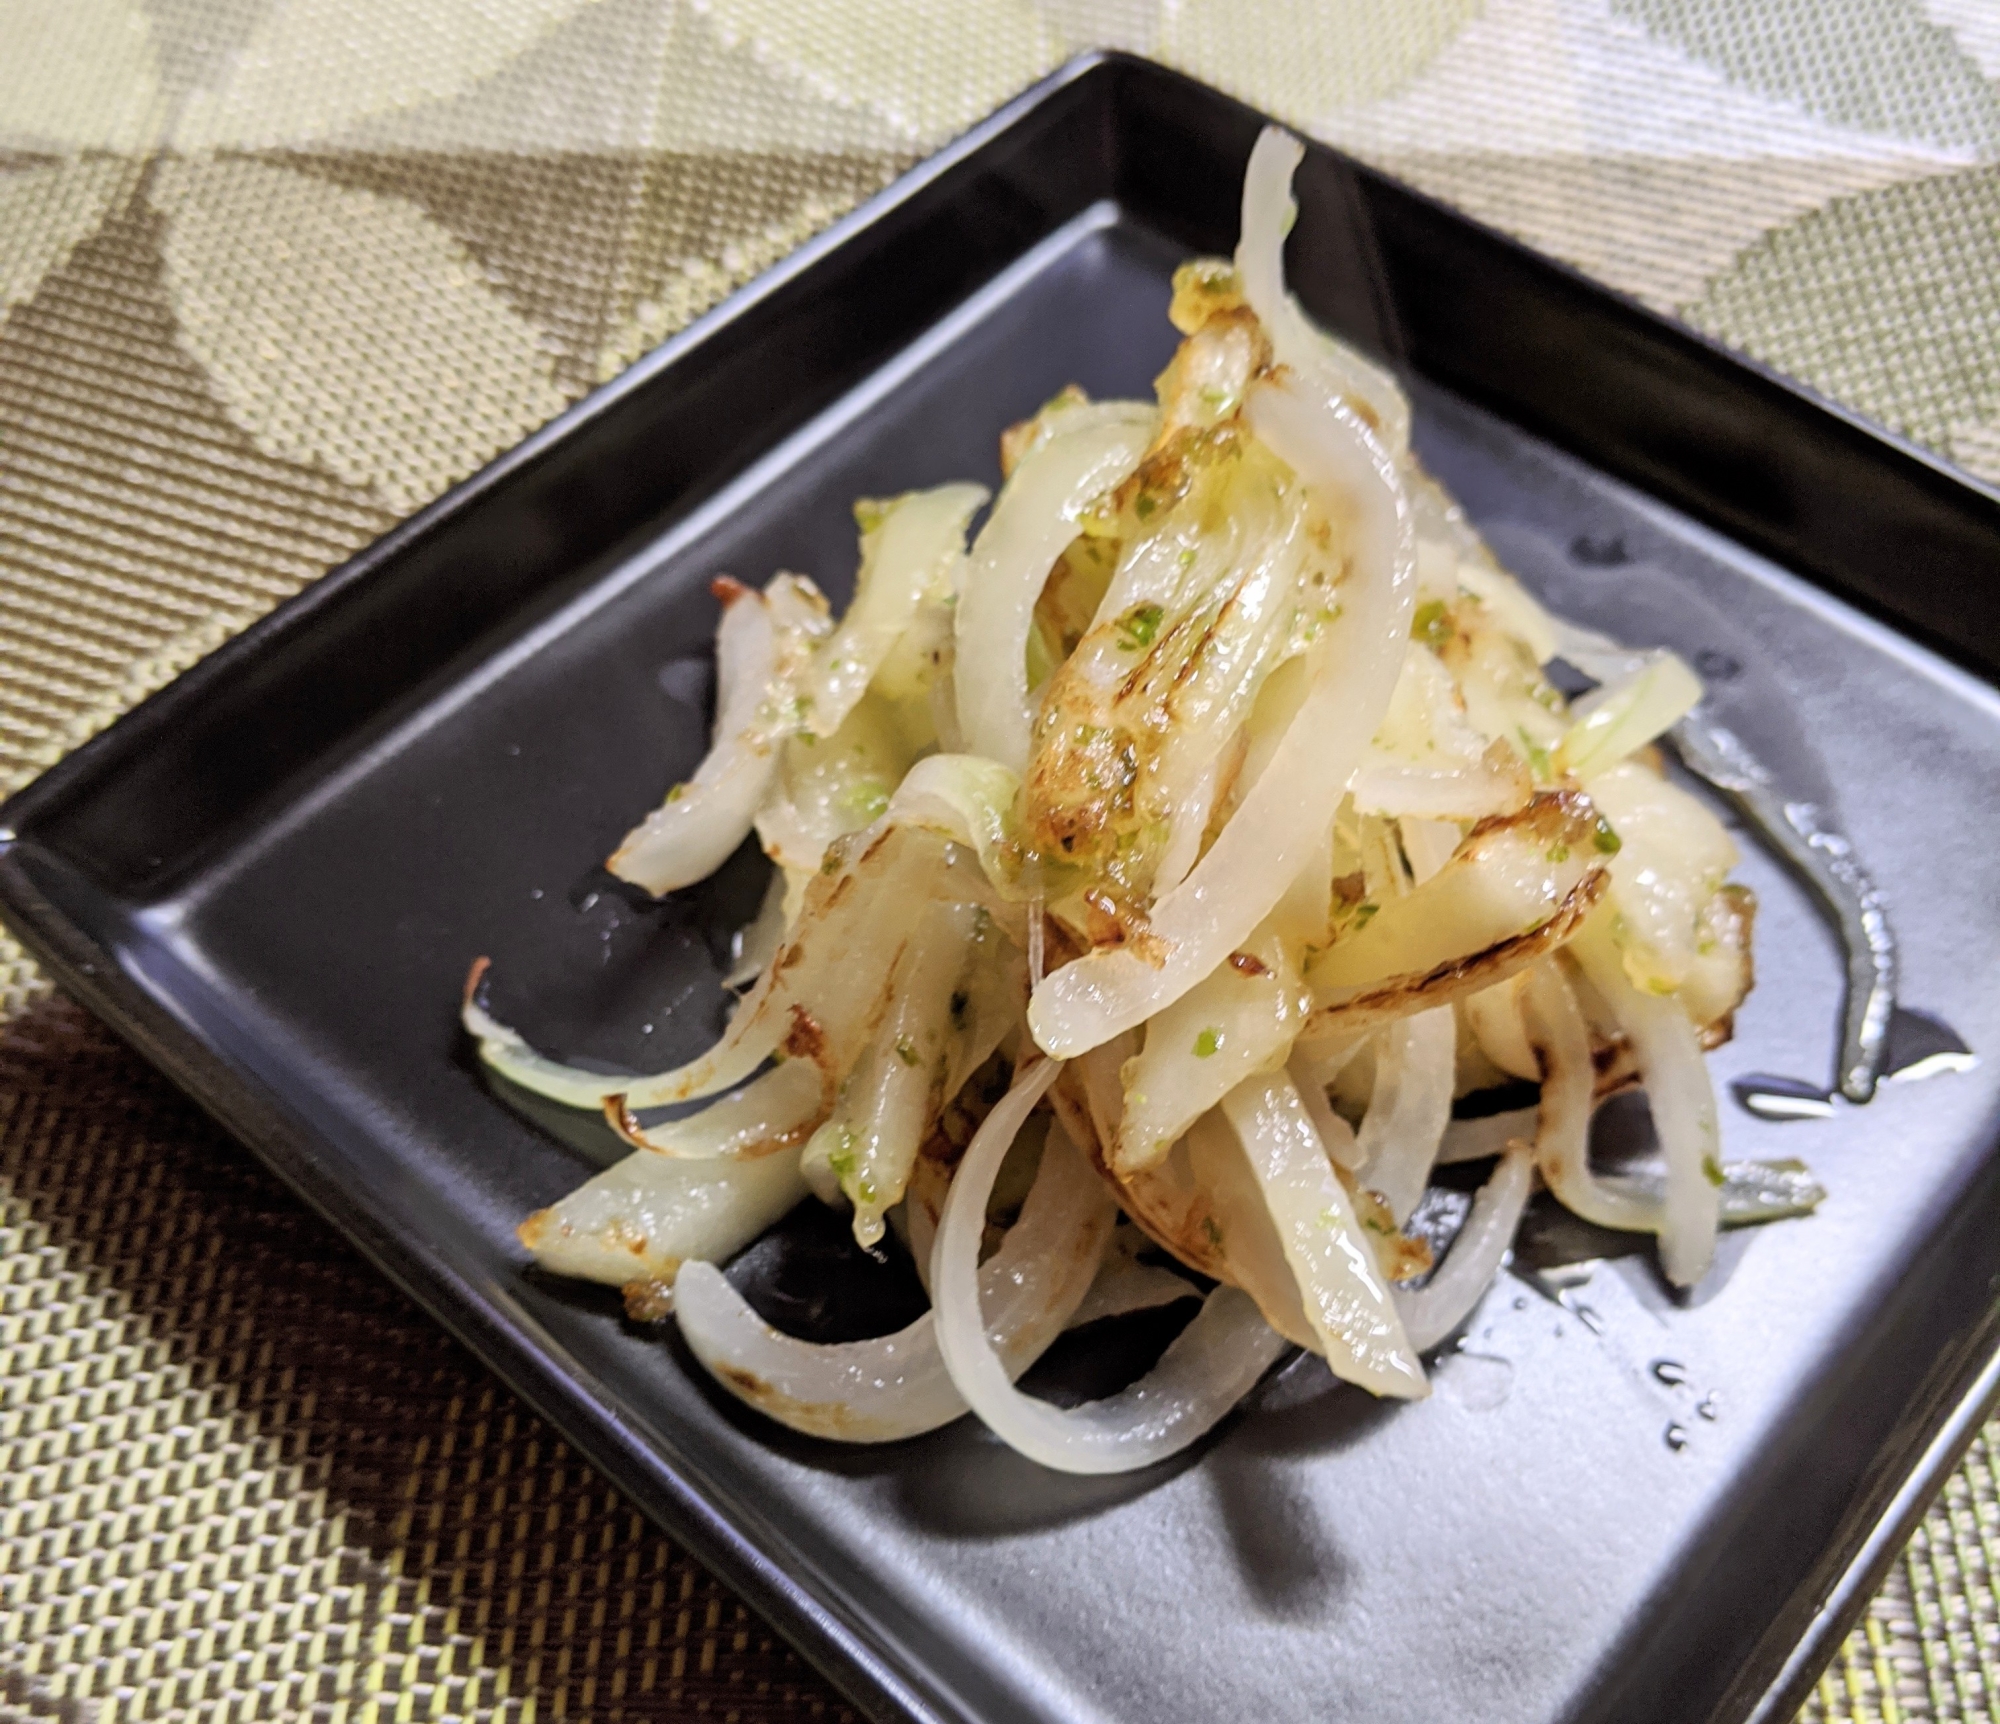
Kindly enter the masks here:
<path id="1" fill-rule="evenodd" d="M 704 1566 L 712 1568 L 744 1602 L 770 1620 L 856 1706 L 876 1718 L 906 1718 L 918 1720 L 918 1724 L 974 1720 L 980 1714 L 970 1710 L 962 1696 L 926 1680 L 928 1672 L 906 1668 L 904 1660 L 878 1646 L 870 1638 L 868 1624 L 856 1612 L 846 1610 L 832 1596 L 822 1596 L 816 1576 L 800 1576 L 770 1556 L 744 1530 L 742 1520 L 756 1516 L 748 1514 L 742 1504 L 734 1504 L 734 1512 L 726 1512 L 694 1480 L 682 1478 L 672 1466 L 662 1464 L 658 1450 L 634 1440 L 614 1406 L 594 1404 L 588 1396 L 578 1396 L 576 1378 L 562 1368 L 560 1350 L 530 1344 L 520 1326 L 488 1308 L 478 1290 L 464 1276 L 452 1272 L 448 1262 L 426 1258 L 422 1250 L 386 1228 L 366 1204 L 358 1202 L 350 1186 L 314 1154 L 310 1132 L 298 1128 L 286 1108 L 252 1072 L 234 1064 L 198 1028 L 170 1010 L 120 964 L 112 946 L 92 936 L 84 918 L 70 914 L 56 902 L 56 896 L 46 888 L 52 876 L 68 876 L 74 892 L 66 892 L 66 896 L 104 894 L 58 852 L 40 846 L 34 838 L 34 824 L 46 810 L 102 780 L 120 760 L 142 752 L 148 736 L 172 726 L 186 706 L 200 702 L 214 686 L 240 674 L 244 666 L 256 664 L 280 642 L 310 630 L 330 604 L 370 582 L 384 566 L 394 564 L 414 546 L 446 532 L 480 498 L 500 490 L 572 442 L 620 402 L 670 380 L 676 366 L 742 322 L 754 308 L 786 290 L 810 292 L 810 278 L 818 266 L 894 216 L 952 170 L 976 162 L 986 150 L 1002 144 L 1018 126 L 1064 92 L 1096 80 L 1104 86 L 1104 104 L 1114 108 L 1118 100 L 1116 80 L 1120 78 L 1160 82 L 1168 88 L 1174 84 L 1194 86 L 1246 114 L 1252 112 L 1222 92 L 1212 92 L 1184 74 L 1134 54 L 1092 50 L 1074 56 L 958 138 L 912 164 L 880 192 L 728 294 L 688 328 L 676 332 L 618 376 L 592 388 L 548 424 L 396 522 L 354 556 L 308 582 L 298 594 L 282 600 L 0 804 L 0 922 L 20 938 L 56 984 L 256 1154 L 400 1292 L 444 1326 L 510 1390 L 520 1394 L 538 1416 L 572 1440 L 648 1518 L 682 1540 Z M 1662 316 L 1634 296 L 1596 282 L 1558 258 L 1522 246 L 1512 236 L 1408 182 L 1382 174 L 1332 146 L 1310 138 L 1308 144 L 1314 152 L 1332 156 L 1354 174 L 1386 184 L 1444 214 L 1454 224 L 1480 230 L 1510 252 L 1530 258 L 1536 268 L 1566 278 L 1574 290 L 1666 328 L 1674 340 L 1704 350 L 1714 362 L 1790 396 L 1814 414 L 1836 422 L 1844 432 L 1864 438 L 1882 458 L 1912 464 L 1926 482 L 1942 482 L 1954 492 L 2000 508 L 2000 486 L 1960 472 L 1932 450 L 1872 424 L 1812 386 L 1726 348 L 1706 332 Z M 722 484 L 726 482 L 728 478 L 722 480 Z M 1722 530 L 1726 532 L 1726 528 Z M 1800 574 L 1800 578 L 1822 592 L 1828 590 L 1810 574 Z M 1852 594 L 1834 596 L 1864 612 L 1870 610 L 1866 600 L 1856 600 Z M 1904 640 L 1916 640 L 1936 650 L 1936 642 L 1926 640 L 1920 626 L 1906 618 L 1886 618 L 1886 626 Z M 1966 666 L 1962 650 L 1944 648 L 1942 656 L 1960 668 Z M 1990 676 L 1982 670 L 1984 666 L 1972 670 L 1974 680 L 1990 686 Z M 1902 1546 L 1954 1472 L 1964 1450 L 1994 1408 L 2000 1408 L 2000 1310 L 1968 1344 L 1950 1390 L 1950 1396 L 1942 1398 L 1944 1412 L 1928 1442 L 1894 1482 L 1884 1508 L 1862 1534 L 1858 1548 L 1846 1560 L 1804 1634 L 1790 1648 L 1782 1668 L 1762 1688 L 1738 1692 L 1744 1688 L 1740 1680 L 1718 1716 L 1734 1714 L 1752 1720 L 1752 1724 L 1780 1724 L 1810 1694 L 1820 1670 L 1866 1610 L 1880 1580 L 1898 1560 Z"/>

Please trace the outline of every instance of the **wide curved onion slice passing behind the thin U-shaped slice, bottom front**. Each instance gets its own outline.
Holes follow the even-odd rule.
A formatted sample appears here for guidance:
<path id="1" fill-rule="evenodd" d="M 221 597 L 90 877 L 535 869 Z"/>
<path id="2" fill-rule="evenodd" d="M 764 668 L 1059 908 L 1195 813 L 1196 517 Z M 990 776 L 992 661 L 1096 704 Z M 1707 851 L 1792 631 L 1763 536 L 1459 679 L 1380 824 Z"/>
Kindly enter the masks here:
<path id="1" fill-rule="evenodd" d="M 978 1270 L 982 1340 L 998 1350 L 1008 1382 L 1090 1292 L 1114 1216 L 1076 1146 L 1052 1130 L 1020 1220 Z M 712 1262 L 690 1262 L 674 1284 L 674 1314 L 716 1382 L 810 1436 L 894 1442 L 966 1410 L 938 1350 L 936 1312 L 878 1340 L 806 1342 L 766 1324 Z"/>

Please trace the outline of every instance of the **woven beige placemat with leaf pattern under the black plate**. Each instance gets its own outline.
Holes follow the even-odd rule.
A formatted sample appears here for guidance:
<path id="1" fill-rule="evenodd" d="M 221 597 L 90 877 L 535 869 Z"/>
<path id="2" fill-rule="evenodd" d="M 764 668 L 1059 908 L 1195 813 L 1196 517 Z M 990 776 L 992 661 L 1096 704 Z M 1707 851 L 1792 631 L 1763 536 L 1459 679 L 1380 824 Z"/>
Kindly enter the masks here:
<path id="1" fill-rule="evenodd" d="M 1088 46 L 2000 482 L 1996 0 L 0 0 L 0 792 Z M 2000 1716 L 2000 1426 L 1808 1718 Z M 846 1718 L 0 940 L 0 1724 Z"/>

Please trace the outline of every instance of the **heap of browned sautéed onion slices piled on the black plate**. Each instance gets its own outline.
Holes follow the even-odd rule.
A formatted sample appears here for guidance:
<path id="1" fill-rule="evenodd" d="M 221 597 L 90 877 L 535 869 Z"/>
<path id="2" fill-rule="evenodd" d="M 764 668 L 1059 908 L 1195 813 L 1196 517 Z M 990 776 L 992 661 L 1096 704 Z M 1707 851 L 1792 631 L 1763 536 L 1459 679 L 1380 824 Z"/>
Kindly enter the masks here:
<path id="1" fill-rule="evenodd" d="M 1290 1346 L 1424 1396 L 1536 1186 L 1654 1234 L 1678 1286 L 1718 1226 L 1818 1200 L 1720 1156 L 1704 1050 L 1754 902 L 1652 748 L 1700 682 L 1550 616 L 1418 466 L 1396 380 L 1306 320 L 1300 156 L 1266 130 L 1236 258 L 1176 274 L 1156 402 L 1064 390 L 1002 438 L 998 498 L 858 504 L 838 622 L 796 574 L 716 582 L 712 748 L 608 864 L 664 894 L 750 832 L 776 864 L 708 1052 L 566 1066 L 474 970 L 484 1060 L 632 1146 L 526 1246 L 670 1310 L 798 1430 L 972 1410 L 1046 1466 L 1130 1470 Z M 1566 700 L 1558 656 L 1604 680 Z M 1532 1108 L 1454 1120 L 1510 1080 Z M 1592 1110 L 1630 1086 L 1664 1176 L 1592 1168 Z M 1480 1158 L 1434 1260 L 1408 1230 L 1432 1170 Z M 898 1230 L 918 1322 L 812 1344 L 736 1292 L 720 1264 L 808 1196 L 862 1246 Z M 1066 1328 L 1196 1296 L 1120 1394 L 1016 1386 Z"/>

